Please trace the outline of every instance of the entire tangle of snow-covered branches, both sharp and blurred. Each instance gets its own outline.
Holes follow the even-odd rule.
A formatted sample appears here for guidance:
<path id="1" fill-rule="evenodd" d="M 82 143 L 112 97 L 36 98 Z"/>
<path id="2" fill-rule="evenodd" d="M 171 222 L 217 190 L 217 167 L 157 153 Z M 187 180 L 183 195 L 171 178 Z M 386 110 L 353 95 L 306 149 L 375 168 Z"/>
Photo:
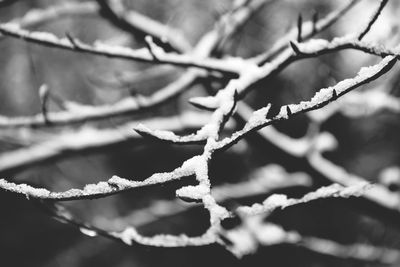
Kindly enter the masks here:
<path id="1" fill-rule="evenodd" d="M 0 188 L 39 201 L 44 206 L 47 205 L 54 217 L 78 227 L 85 235 L 91 237 L 102 235 L 128 245 L 137 243 L 146 246 L 182 247 L 218 243 L 225 246 L 237 257 L 242 257 L 254 253 L 260 245 L 289 243 L 335 257 L 367 261 L 379 260 L 382 262 L 392 262 L 394 258 L 397 259 L 398 253 L 394 251 L 385 254 L 384 250 L 379 247 L 363 246 L 362 244 L 344 246 L 331 240 L 305 237 L 295 231 L 286 231 L 279 225 L 265 221 L 265 217 L 276 209 L 334 197 L 362 196 L 379 204 L 380 207 L 399 211 L 399 197 L 391 192 L 393 184 L 399 180 L 398 177 L 393 178 L 395 176 L 393 169 L 386 170 L 382 174 L 381 182 L 384 186 L 372 185 L 366 182 L 364 178 L 348 173 L 344 168 L 335 165 L 322 156 L 322 153 L 334 150 L 339 142 L 331 133 L 320 132 L 321 124 L 338 111 L 352 117 L 372 114 L 382 109 L 399 112 L 398 99 L 386 92 L 378 90 L 352 92 L 355 88 L 384 75 L 398 60 L 398 48 L 390 49 L 362 41 L 363 36 L 369 32 L 387 1 L 381 1 L 374 16 L 358 35 L 351 34 L 334 38 L 332 41 L 307 40 L 334 23 L 358 2 L 353 0 L 322 19 L 318 19 L 315 15 L 312 21 L 303 22 L 303 17 L 300 15 L 297 28 L 278 40 L 269 51 L 256 58 L 242 59 L 224 55 L 220 57 L 220 53 L 224 51 L 222 47 L 226 40 L 267 2 L 269 1 L 254 0 L 236 3 L 234 9 L 223 15 L 215 27 L 206 33 L 193 48 L 186 39 L 184 39 L 185 42 L 182 41 L 182 44 L 177 41 L 182 36 L 163 33 L 163 31 L 169 30 L 177 33 L 175 29 L 164 26 L 141 14 L 137 14 L 135 18 L 136 12 L 124 10 L 120 1 L 98 0 L 97 3 L 100 6 L 87 4 L 83 6 L 84 11 L 81 12 L 76 6 L 64 6 L 63 8 L 58 6 L 54 10 L 37 10 L 36 13 L 30 12 L 19 20 L 1 24 L 0 33 L 3 35 L 21 38 L 27 42 L 43 46 L 111 58 L 170 64 L 187 69 L 176 81 L 147 96 L 137 94 L 134 97 L 120 99 L 115 104 L 101 106 L 62 101 L 62 107 L 65 110 L 59 112 L 48 110 L 49 92 L 45 87 L 42 87 L 40 90 L 42 113 L 26 117 L 1 116 L 0 127 L 3 128 L 20 127 L 26 129 L 32 126 L 49 126 L 50 123 L 53 126 L 71 126 L 71 124 L 77 122 L 93 123 L 95 120 L 128 114 L 139 115 L 139 112 L 150 111 L 150 114 L 152 114 L 151 112 L 155 111 L 155 107 L 177 97 L 185 90 L 190 89 L 192 85 L 207 79 L 212 80 L 212 82 L 209 83 L 209 88 L 207 88 L 210 93 L 209 96 L 191 97 L 189 99 L 189 103 L 209 111 L 210 115 L 192 112 L 190 114 L 181 113 L 173 117 L 120 124 L 115 129 L 111 126 L 99 128 L 96 127 L 99 125 L 88 124 L 80 128 L 77 127 L 76 131 L 64 131 L 57 136 L 48 134 L 46 135 L 48 139 L 45 141 L 4 153 L 0 157 L 0 171 L 18 170 L 46 160 L 63 157 L 67 154 L 66 152 L 78 154 L 87 149 L 104 148 L 127 142 L 133 138 L 138 138 L 138 134 L 173 144 L 202 145 L 202 151 L 199 154 L 185 160 L 181 166 L 176 166 L 172 171 L 154 173 L 143 181 L 136 181 L 132 177 L 125 179 L 113 176 L 108 180 L 87 184 L 82 189 L 70 189 L 64 192 L 52 192 L 46 188 L 17 184 L 6 179 L 0 180 Z M 85 12 L 99 12 L 114 26 L 129 31 L 135 37 L 141 39 L 140 41 L 144 41 L 147 47 L 132 49 L 101 42 L 88 44 L 70 34 L 67 34 L 66 38 L 59 38 L 52 33 L 23 29 L 54 19 L 57 14 L 73 15 Z M 40 14 L 46 15 L 46 18 L 39 19 Z M 290 43 L 293 51 L 288 47 L 288 43 Z M 356 49 L 380 56 L 383 59 L 378 64 L 362 68 L 353 78 L 320 89 L 308 101 L 278 107 L 279 112 L 277 114 L 274 114 L 273 108 L 271 108 L 274 103 L 266 104 L 254 112 L 244 104 L 243 98 L 247 92 L 258 88 L 256 85 L 273 77 L 293 62 L 342 49 Z M 215 57 L 212 57 L 214 55 Z M 159 69 L 156 69 L 156 72 L 157 70 Z M 214 85 L 214 81 L 218 86 Z M 205 82 L 205 84 L 207 83 Z M 348 94 L 347 97 L 344 97 L 345 94 Z M 333 105 L 328 105 L 331 103 Z M 319 110 L 319 113 L 312 113 L 315 110 Z M 229 129 L 231 132 L 224 131 L 227 125 L 232 127 L 233 124 L 228 124 L 228 122 L 231 121 L 235 113 L 243 119 L 243 124 L 238 123 L 238 125 L 244 126 L 238 128 L 239 130 L 235 128 L 233 133 L 232 128 Z M 279 121 L 289 120 L 303 113 L 309 113 L 309 118 L 311 118 L 309 131 L 303 138 L 293 139 L 272 127 Z M 192 134 L 178 135 L 182 132 L 185 134 L 185 130 L 188 128 L 197 130 Z M 132 129 L 138 134 L 135 134 Z M 282 167 L 269 165 L 252 172 L 248 180 L 241 180 L 235 184 L 213 186 L 214 181 L 212 175 L 210 175 L 212 173 L 210 166 L 216 153 L 233 146 L 239 140 L 256 131 L 259 131 L 261 136 L 274 143 L 282 151 L 304 159 L 313 171 L 326 176 L 333 184 L 316 188 L 315 191 L 309 192 L 301 198 L 291 198 L 284 194 L 270 195 L 274 189 L 296 185 L 310 186 L 312 178 L 303 173 L 289 174 Z M 31 133 L 33 132 L 34 130 L 31 129 Z M 395 174 L 397 175 L 397 172 Z M 187 177 L 194 177 L 195 184 L 185 184 L 184 178 Z M 221 178 L 227 179 L 228 177 Z M 183 180 L 182 183 L 184 183 L 175 190 L 175 196 L 178 199 L 155 201 L 148 208 L 137 210 L 136 217 L 140 217 L 137 220 L 142 224 L 150 223 L 163 216 L 172 216 L 191 207 L 202 206 L 208 212 L 209 227 L 198 236 L 189 236 L 183 233 L 177 235 L 159 233 L 153 236 L 145 236 L 140 233 L 135 223 L 124 225 L 122 231 L 104 230 L 89 223 L 79 222 L 66 210 L 59 209 L 59 206 L 52 206 L 56 201 L 102 198 L 135 188 L 162 185 L 178 180 Z M 225 206 L 225 202 L 228 200 L 247 199 L 254 196 L 262 196 L 266 199 L 262 203 L 238 205 L 232 210 L 227 207 L 229 205 Z M 190 203 L 185 203 L 186 206 L 182 208 L 182 200 Z M 142 216 L 146 212 L 154 210 L 154 207 L 158 207 L 159 210 L 159 207 L 163 207 L 162 212 L 155 212 L 155 214 L 152 214 L 154 216 Z M 135 211 L 132 214 L 132 216 L 135 216 Z M 240 217 L 242 225 L 233 229 L 225 229 L 225 220 L 236 216 Z M 117 223 L 120 223 L 120 221 L 117 221 Z M 140 223 L 138 223 L 139 226 Z M 352 251 L 352 253 L 347 250 Z M 386 257 L 387 255 L 389 256 Z"/>

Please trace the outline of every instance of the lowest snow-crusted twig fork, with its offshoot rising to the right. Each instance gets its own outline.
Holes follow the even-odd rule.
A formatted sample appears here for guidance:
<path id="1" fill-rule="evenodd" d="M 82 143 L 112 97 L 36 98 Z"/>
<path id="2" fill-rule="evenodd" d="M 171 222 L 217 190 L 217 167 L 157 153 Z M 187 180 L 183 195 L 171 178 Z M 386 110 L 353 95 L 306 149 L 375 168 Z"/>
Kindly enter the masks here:
<path id="1" fill-rule="evenodd" d="M 188 166 L 191 166 L 191 164 L 189 164 Z M 195 167 L 196 168 L 196 167 Z M 320 199 L 320 198 L 329 198 L 329 197 L 342 197 L 342 198 L 347 198 L 350 196 L 359 196 L 360 194 L 362 194 L 365 190 L 368 189 L 370 185 L 369 184 L 360 184 L 357 186 L 351 186 L 351 187 L 340 187 L 338 185 L 331 185 L 325 188 L 321 188 L 318 189 L 315 192 L 306 194 L 303 198 L 301 199 L 286 199 L 283 200 L 283 198 L 280 198 L 280 200 L 278 201 L 278 203 L 276 204 L 276 206 L 274 206 L 275 208 L 285 208 L 287 206 L 292 206 L 292 205 L 297 205 L 297 204 L 301 204 L 301 203 L 305 203 L 305 202 L 309 202 L 309 201 L 313 201 L 316 199 Z M 225 190 L 231 190 L 231 189 L 222 189 L 221 190 L 225 191 Z M 197 190 L 194 190 L 194 192 L 196 192 Z M 207 192 L 204 192 L 203 197 L 207 195 Z M 193 194 L 191 193 L 191 197 L 193 197 Z M 272 198 L 276 199 L 277 196 L 273 195 L 271 197 L 269 197 L 268 199 L 270 199 L 269 201 L 271 202 Z M 208 197 L 206 197 L 206 199 L 208 199 Z M 268 200 L 267 199 L 267 200 Z M 222 200 L 222 198 L 220 198 L 220 200 Z M 267 201 L 266 200 L 266 201 Z M 203 200 L 208 202 L 208 200 Z M 222 215 L 220 214 L 220 209 L 218 208 L 218 206 L 215 206 L 215 204 L 211 204 L 212 208 L 209 210 L 210 213 L 215 213 L 214 216 L 217 216 L 217 218 L 219 216 L 228 216 L 228 215 Z M 90 236 L 96 236 L 96 235 L 103 235 L 109 238 L 115 238 L 118 239 L 128 245 L 132 245 L 133 242 L 138 243 L 138 244 L 142 244 L 142 245 L 151 245 L 151 246 L 162 246 L 162 247 L 181 247 L 181 246 L 202 246 L 202 245 L 207 245 L 207 244 L 213 244 L 213 243 L 221 243 L 225 246 L 227 246 L 227 248 L 229 250 L 231 250 L 236 256 L 241 257 L 243 256 L 243 254 L 247 254 L 247 253 L 251 253 L 252 250 L 246 249 L 245 251 L 243 250 L 243 246 L 247 246 L 248 244 L 246 242 L 243 243 L 243 238 L 246 236 L 245 233 L 240 233 L 240 236 L 237 236 L 237 238 L 239 238 L 239 240 L 236 240 L 236 234 L 238 234 L 238 230 L 234 229 L 234 230 L 230 230 L 230 231 L 225 231 L 222 228 L 219 227 L 218 221 L 214 221 L 211 222 L 211 226 L 210 228 L 203 234 L 197 237 L 189 237 L 187 235 L 181 234 L 178 236 L 174 236 L 174 235 L 164 235 L 164 234 L 160 234 L 160 235 L 155 235 L 152 237 L 146 237 L 141 235 L 140 233 L 138 233 L 138 231 L 134 228 L 134 227 L 127 227 L 122 231 L 119 232 L 114 232 L 114 231 L 106 231 L 106 230 L 102 230 L 98 227 L 94 227 L 88 224 L 84 224 L 84 223 L 79 223 L 77 221 L 75 221 L 75 219 L 72 217 L 71 214 L 69 214 L 68 212 L 66 212 L 65 210 L 60 210 L 59 208 L 55 209 L 55 208 L 51 208 L 52 212 L 54 212 L 55 216 L 65 222 L 71 223 L 75 226 L 78 226 L 80 228 L 80 230 L 85 233 L 85 234 L 89 234 Z M 249 209 L 248 207 L 239 207 L 237 209 L 237 213 L 242 216 L 244 218 L 245 222 L 251 222 L 254 221 L 253 218 L 255 218 L 256 214 L 268 214 L 270 213 L 272 210 L 263 210 L 263 211 L 259 211 L 257 210 L 256 212 L 252 211 L 252 213 L 246 213 L 246 210 Z M 252 207 L 253 209 L 253 207 Z M 213 216 L 213 214 L 210 214 L 210 216 Z M 223 218 L 222 217 L 222 218 Z M 248 223 L 247 223 L 248 224 Z M 252 225 L 252 224 L 251 224 Z M 267 227 L 268 225 L 266 225 L 265 227 Z M 273 225 L 271 225 L 272 227 Z M 294 242 L 296 241 L 299 242 L 302 239 L 297 236 L 297 235 L 293 235 L 290 234 L 289 236 L 287 235 L 286 232 L 284 232 L 280 227 L 278 226 L 273 226 L 273 228 L 271 227 L 267 227 L 269 230 L 267 231 L 267 233 L 261 231 L 258 232 L 258 228 L 254 227 L 254 225 L 252 225 L 252 227 L 250 228 L 251 231 L 255 231 L 254 233 L 258 233 L 257 234 L 257 240 L 260 241 L 262 245 L 272 245 L 272 244 L 277 244 L 277 243 L 285 243 L 285 242 Z M 265 228 L 265 229 L 267 229 Z M 278 232 L 273 231 L 273 229 L 275 229 Z M 260 230 L 260 229 L 259 229 Z M 272 234 L 272 232 L 274 232 L 275 234 Z M 225 238 L 228 238 L 228 240 L 230 240 L 230 245 L 227 245 L 224 241 L 224 239 L 221 239 L 222 236 L 225 236 Z M 250 238 L 250 237 L 249 237 Z M 251 238 L 254 238 L 254 236 L 251 236 Z M 240 243 L 236 243 L 237 241 L 240 241 Z M 254 241 L 252 241 L 254 242 Z M 232 244 L 236 244 L 236 245 L 240 245 L 241 249 L 238 250 L 237 248 L 232 247 Z"/>

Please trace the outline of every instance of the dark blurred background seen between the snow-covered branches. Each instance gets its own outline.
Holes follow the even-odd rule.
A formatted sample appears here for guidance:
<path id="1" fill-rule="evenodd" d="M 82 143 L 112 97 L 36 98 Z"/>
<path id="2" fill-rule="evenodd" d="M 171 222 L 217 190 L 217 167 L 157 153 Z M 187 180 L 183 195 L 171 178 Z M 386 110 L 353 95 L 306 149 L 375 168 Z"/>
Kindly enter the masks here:
<path id="1" fill-rule="evenodd" d="M 1 22 L 22 17 L 31 9 L 75 1 L 31 0 L 17 1 L 0 9 Z M 315 12 L 323 17 L 347 1 L 283 0 L 271 1 L 231 38 L 221 54 L 256 56 L 274 44 L 296 25 L 299 14 L 310 20 Z M 126 0 L 127 9 L 177 28 L 195 45 L 201 36 L 213 28 L 218 18 L 232 8 L 232 1 L 211 0 Z M 373 13 L 378 1 L 362 0 L 319 38 L 353 33 Z M 393 47 L 399 42 L 398 1 L 389 1 L 382 15 L 366 36 L 366 40 Z M 70 33 L 87 43 L 95 40 L 143 47 L 143 42 L 119 30 L 98 14 L 60 17 L 35 30 L 48 31 L 63 37 Z M 115 103 L 130 95 L 150 95 L 174 81 L 182 69 L 161 71 L 154 65 L 78 54 L 29 44 L 21 40 L 0 37 L 0 114 L 27 116 L 40 113 L 39 88 L 46 84 L 57 99 L 85 105 Z M 345 50 L 315 59 L 295 62 L 284 71 L 268 79 L 245 98 L 253 108 L 267 103 L 283 105 L 309 99 L 317 90 L 353 77 L 360 67 L 378 62 L 379 58 L 358 51 Z M 153 74 L 152 71 L 153 70 Z M 155 74 L 154 74 L 155 72 Z M 149 75 L 150 73 L 150 75 Z M 399 67 L 360 91 L 384 90 L 400 97 Z M 164 105 L 139 115 L 86 122 L 72 126 L 45 128 L 1 129 L 0 176 L 17 182 L 40 185 L 53 191 L 80 188 L 88 183 L 106 180 L 112 175 L 142 180 L 152 173 L 170 171 L 201 153 L 201 146 L 176 146 L 130 139 L 119 144 L 89 149 L 79 153 L 65 153 L 43 162 L 17 168 L 1 168 L 13 151 L 49 140 L 62 133 L 96 127 L 115 129 L 138 118 L 162 117 L 184 110 L 196 111 L 187 100 L 193 95 L 204 95 L 201 84 Z M 50 102 L 51 111 L 62 109 Z M 399 193 L 400 177 L 400 113 L 381 110 L 369 116 L 351 118 L 337 113 L 325 121 L 322 129 L 331 132 L 339 147 L 326 158 L 345 170 L 372 182 L 382 182 L 383 170 L 392 168 L 390 190 Z M 300 138 L 307 132 L 309 118 L 298 116 L 276 127 L 287 135 Z M 238 122 L 240 125 L 240 122 Z M 187 132 L 193 129 L 187 130 Z M 133 130 L 132 130 L 133 134 Z M 257 134 L 211 162 L 213 186 L 245 181 L 264 166 L 281 166 L 288 175 L 307 173 L 311 183 L 282 187 L 248 198 L 227 200 L 226 207 L 250 204 L 265 199 L 272 193 L 300 197 L 329 184 L 304 159 L 288 155 Z M 387 174 L 387 173 L 386 173 Z M 397 175 L 397 176 L 396 176 Z M 398 180 L 396 180 L 398 177 Z M 189 181 L 194 183 L 195 181 Z M 208 227 L 208 214 L 200 206 L 177 200 L 184 211 L 161 216 L 168 207 L 156 206 L 158 200 L 174 200 L 175 190 L 186 182 L 148 187 L 99 200 L 63 203 L 77 218 L 109 230 L 121 230 L 135 225 L 142 234 L 186 233 L 194 236 Z M 161 202 L 165 203 L 165 202 Z M 161 210 L 161 211 L 160 211 Z M 153 248 L 126 246 L 103 237 L 90 237 L 75 227 L 48 216 L 34 202 L 11 193 L 0 192 L 0 258 L 2 266 L 382 266 L 379 262 L 365 262 L 322 255 L 306 248 L 278 244 L 261 246 L 251 255 L 237 259 L 223 247 L 212 245 L 193 248 Z M 136 212 L 136 213 L 135 213 Z M 147 213 L 146 213 L 147 212 Z M 149 214 L 150 213 L 150 214 Z M 168 213 L 168 212 L 165 212 Z M 400 217 L 381 212 L 364 199 L 325 199 L 274 212 L 268 221 L 294 230 L 302 235 L 334 240 L 340 244 L 365 243 L 400 249 Z M 240 222 L 238 222 L 240 223 Z M 399 266 L 395 261 L 392 266 Z"/>

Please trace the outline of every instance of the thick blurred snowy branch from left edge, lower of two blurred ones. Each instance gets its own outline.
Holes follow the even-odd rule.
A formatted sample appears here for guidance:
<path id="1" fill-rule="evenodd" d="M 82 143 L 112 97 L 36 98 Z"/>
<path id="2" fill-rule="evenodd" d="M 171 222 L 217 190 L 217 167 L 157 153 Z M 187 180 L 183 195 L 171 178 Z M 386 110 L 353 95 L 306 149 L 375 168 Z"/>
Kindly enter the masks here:
<path id="1" fill-rule="evenodd" d="M 159 129 L 183 131 L 199 128 L 209 119 L 208 114 L 186 112 L 142 122 Z M 83 127 L 80 130 L 65 131 L 55 136 L 47 135 L 45 141 L 31 144 L 26 148 L 3 152 L 0 155 L 0 173 L 21 170 L 48 160 L 136 140 L 139 135 L 132 129 L 138 123 L 138 121 L 129 122 L 112 129 Z"/>

